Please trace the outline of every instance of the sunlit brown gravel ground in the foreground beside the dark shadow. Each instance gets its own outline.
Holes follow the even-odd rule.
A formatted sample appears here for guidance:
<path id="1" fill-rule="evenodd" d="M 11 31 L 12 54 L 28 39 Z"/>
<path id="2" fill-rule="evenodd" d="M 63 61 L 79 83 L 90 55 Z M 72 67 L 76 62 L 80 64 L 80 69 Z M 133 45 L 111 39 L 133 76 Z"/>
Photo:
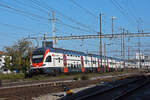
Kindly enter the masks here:
<path id="1" fill-rule="evenodd" d="M 124 75 L 121 77 L 117 76 L 115 78 L 106 76 L 104 78 L 96 78 L 95 80 L 92 79 L 92 80 L 72 81 L 66 83 L 64 82 L 64 84 L 69 86 L 69 88 L 74 89 L 73 91 L 79 91 L 80 89 L 84 89 L 93 84 L 98 84 L 102 81 L 111 82 L 129 76 L 133 76 L 133 74 Z M 78 89 L 76 90 L 76 88 Z M 37 86 L 28 86 L 28 87 L 0 89 L 0 100 L 56 100 L 59 97 L 54 96 L 54 93 L 63 94 L 62 87 L 50 86 L 50 85 L 44 85 L 44 86 L 37 85 Z"/>

